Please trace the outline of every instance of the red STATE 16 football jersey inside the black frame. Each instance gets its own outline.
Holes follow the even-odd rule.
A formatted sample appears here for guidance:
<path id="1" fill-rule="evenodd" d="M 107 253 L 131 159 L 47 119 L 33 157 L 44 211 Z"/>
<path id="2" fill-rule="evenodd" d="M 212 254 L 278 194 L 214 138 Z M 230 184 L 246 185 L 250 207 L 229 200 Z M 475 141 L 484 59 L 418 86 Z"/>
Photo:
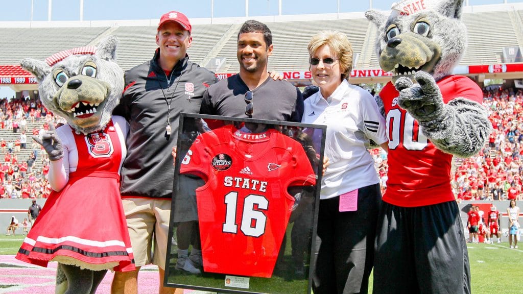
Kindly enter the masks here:
<path id="1" fill-rule="evenodd" d="M 271 277 L 294 204 L 287 188 L 315 185 L 302 145 L 229 125 L 199 135 L 180 173 L 206 182 L 196 190 L 203 270 Z"/>

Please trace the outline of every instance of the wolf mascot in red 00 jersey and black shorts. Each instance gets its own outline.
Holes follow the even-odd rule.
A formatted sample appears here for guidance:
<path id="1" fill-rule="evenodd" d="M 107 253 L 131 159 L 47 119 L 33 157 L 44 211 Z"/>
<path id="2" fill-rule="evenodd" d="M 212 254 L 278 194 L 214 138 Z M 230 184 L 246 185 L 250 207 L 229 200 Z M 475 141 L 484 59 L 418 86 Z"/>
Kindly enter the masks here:
<path id="1" fill-rule="evenodd" d="M 450 186 L 452 156 L 479 153 L 491 131 L 483 93 L 452 75 L 466 47 L 462 0 L 407 0 L 377 26 L 392 82 L 377 96 L 389 136 L 374 293 L 470 293 L 467 245 Z"/>

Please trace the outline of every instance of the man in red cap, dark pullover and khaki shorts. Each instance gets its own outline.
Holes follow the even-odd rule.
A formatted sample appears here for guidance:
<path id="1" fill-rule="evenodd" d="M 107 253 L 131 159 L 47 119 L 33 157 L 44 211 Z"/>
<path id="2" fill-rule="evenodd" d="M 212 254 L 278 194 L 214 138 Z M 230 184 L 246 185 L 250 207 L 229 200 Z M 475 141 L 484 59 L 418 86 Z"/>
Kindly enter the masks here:
<path id="1" fill-rule="evenodd" d="M 147 264 L 158 266 L 160 294 L 175 291 L 163 286 L 174 178 L 172 161 L 165 159 L 176 146 L 179 112 L 197 114 L 206 88 L 218 82 L 189 60 L 191 30 L 183 13 L 160 18 L 153 58 L 125 73 L 120 105 L 113 111 L 130 122 L 120 192 L 137 270 L 115 272 L 112 294 L 138 293 L 138 270 Z M 199 273 L 190 261 L 179 270 Z"/>

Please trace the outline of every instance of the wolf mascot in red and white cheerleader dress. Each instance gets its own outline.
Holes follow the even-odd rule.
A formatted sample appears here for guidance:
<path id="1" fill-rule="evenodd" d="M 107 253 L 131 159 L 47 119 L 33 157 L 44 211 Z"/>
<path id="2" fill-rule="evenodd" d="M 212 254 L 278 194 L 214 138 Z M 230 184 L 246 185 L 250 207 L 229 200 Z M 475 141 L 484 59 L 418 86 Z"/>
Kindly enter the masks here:
<path id="1" fill-rule="evenodd" d="M 119 189 L 128 125 L 111 116 L 123 91 L 116 44 L 108 37 L 21 62 L 37 77 L 43 105 L 67 121 L 34 138 L 49 154 L 53 191 L 16 255 L 59 262 L 57 293 L 94 293 L 107 269 L 135 269 Z"/>

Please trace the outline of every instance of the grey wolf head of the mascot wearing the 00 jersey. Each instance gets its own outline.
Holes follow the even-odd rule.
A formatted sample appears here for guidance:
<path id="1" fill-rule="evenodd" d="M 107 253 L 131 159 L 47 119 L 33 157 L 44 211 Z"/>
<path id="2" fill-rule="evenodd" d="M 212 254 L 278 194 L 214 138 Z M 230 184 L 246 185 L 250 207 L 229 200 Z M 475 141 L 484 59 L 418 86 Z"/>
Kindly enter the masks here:
<path id="1" fill-rule="evenodd" d="M 412 78 L 417 71 L 438 81 L 461 60 L 467 44 L 461 22 L 463 0 L 436 1 L 403 0 L 393 5 L 390 16 L 376 10 L 365 13 L 378 27 L 378 60 L 384 71 L 393 72 L 393 83 L 400 76 Z"/>

